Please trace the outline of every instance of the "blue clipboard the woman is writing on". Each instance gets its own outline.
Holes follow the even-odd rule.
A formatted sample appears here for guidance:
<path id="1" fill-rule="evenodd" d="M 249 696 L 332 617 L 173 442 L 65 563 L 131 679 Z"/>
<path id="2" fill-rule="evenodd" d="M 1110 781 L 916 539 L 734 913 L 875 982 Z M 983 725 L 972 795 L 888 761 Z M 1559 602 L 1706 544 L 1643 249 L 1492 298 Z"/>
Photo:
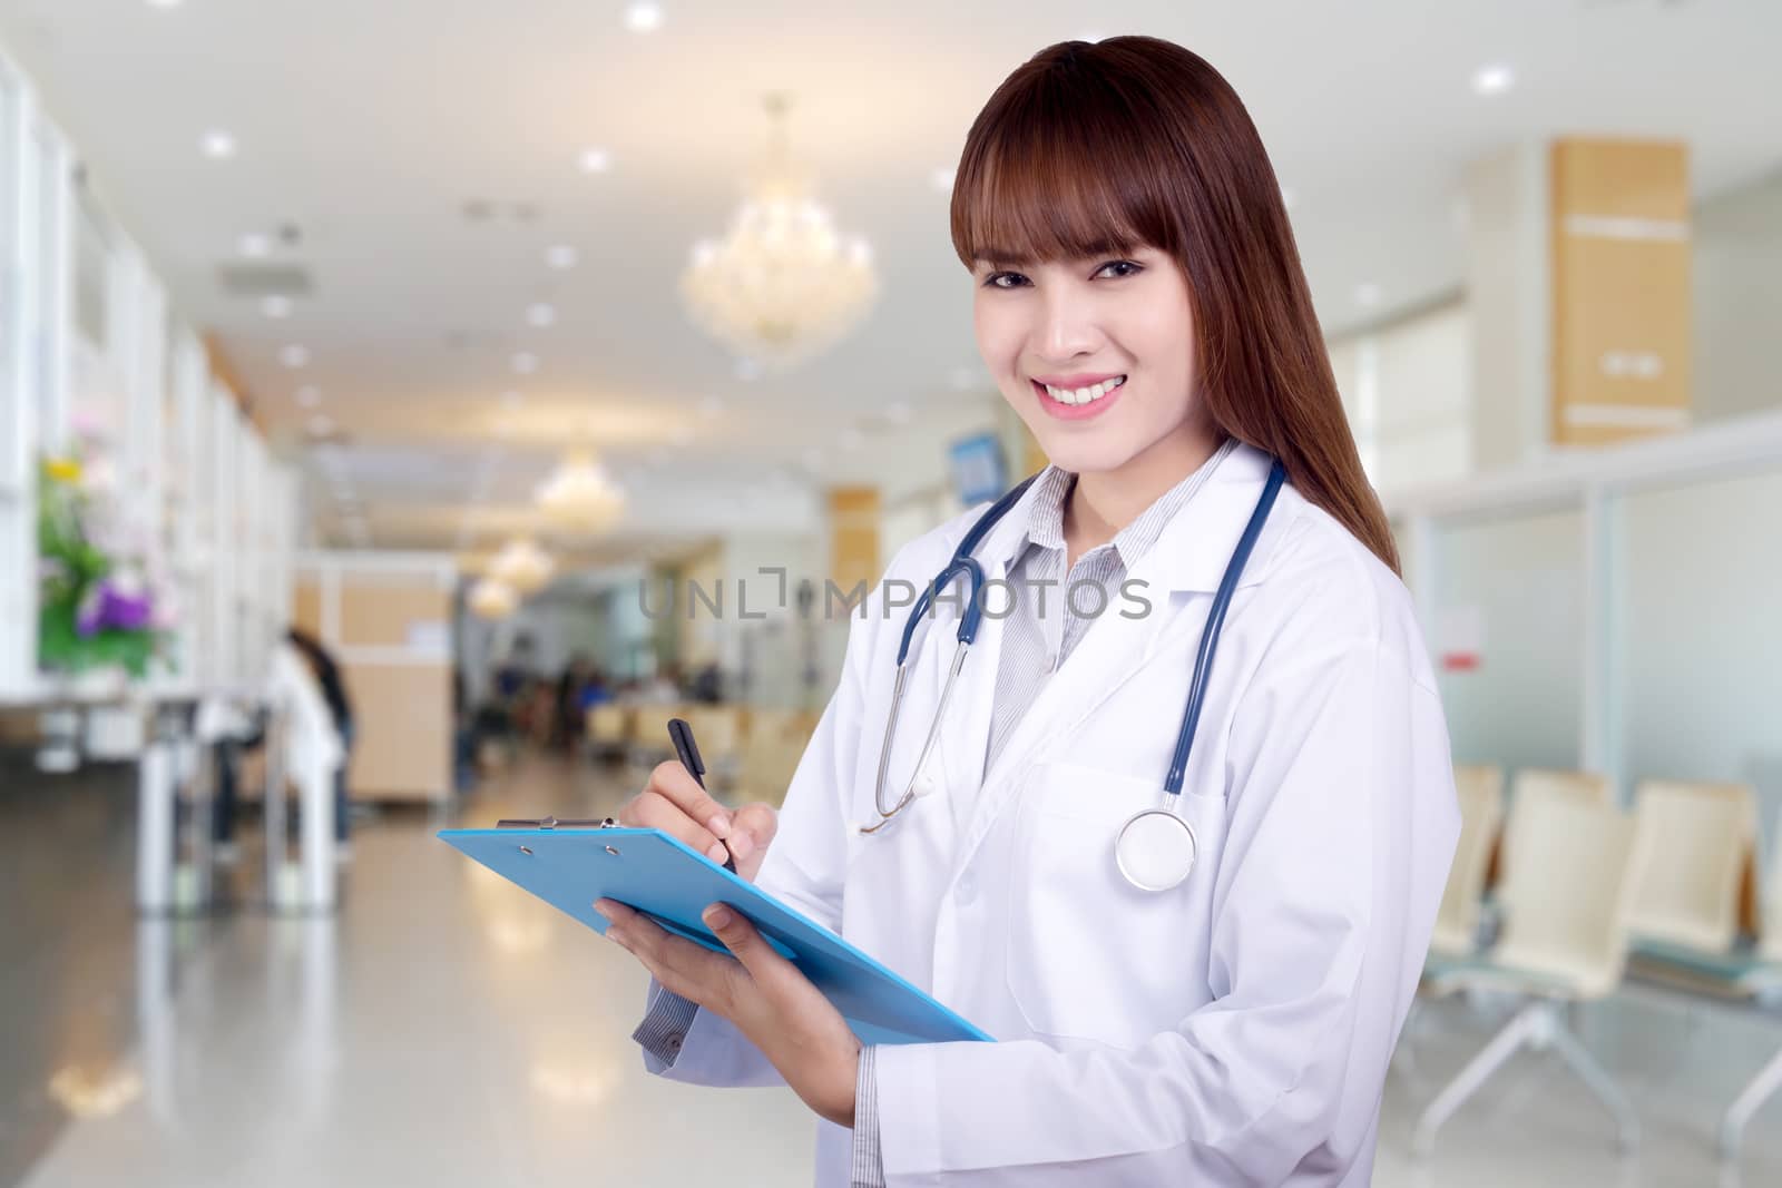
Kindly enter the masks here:
<path id="1" fill-rule="evenodd" d="M 617 825 L 440 830 L 503 878 L 599 933 L 595 899 L 617 899 L 695 944 L 729 953 L 700 921 L 727 903 L 836 1005 L 862 1044 L 991 1040 L 857 948 L 773 896 L 654 828 Z"/>

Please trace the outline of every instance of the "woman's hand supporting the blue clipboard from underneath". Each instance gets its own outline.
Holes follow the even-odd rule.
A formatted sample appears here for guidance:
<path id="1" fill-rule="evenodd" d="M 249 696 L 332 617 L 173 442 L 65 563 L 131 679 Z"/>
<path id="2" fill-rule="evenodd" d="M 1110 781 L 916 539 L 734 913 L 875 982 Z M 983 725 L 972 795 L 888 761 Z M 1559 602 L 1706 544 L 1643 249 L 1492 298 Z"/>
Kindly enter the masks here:
<path id="1" fill-rule="evenodd" d="M 861 1042 L 823 992 L 761 939 L 754 924 L 722 903 L 704 912 L 706 926 L 736 960 L 656 926 L 624 903 L 601 899 L 615 940 L 672 994 L 736 1024 L 779 1069 L 804 1104 L 836 1126 L 854 1126 L 854 1083 Z"/>

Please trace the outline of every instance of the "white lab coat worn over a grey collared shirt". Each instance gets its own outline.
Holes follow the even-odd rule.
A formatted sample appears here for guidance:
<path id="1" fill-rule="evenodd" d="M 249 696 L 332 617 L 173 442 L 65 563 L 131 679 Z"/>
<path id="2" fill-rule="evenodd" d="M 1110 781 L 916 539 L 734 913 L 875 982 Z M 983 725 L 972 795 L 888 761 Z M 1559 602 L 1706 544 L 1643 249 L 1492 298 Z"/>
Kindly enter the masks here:
<path id="1" fill-rule="evenodd" d="M 907 611 L 884 616 L 873 591 L 854 622 L 759 883 L 1000 1040 L 879 1049 L 893 1188 L 1369 1183 L 1459 812 L 1404 586 L 1292 486 L 1231 602 L 1187 769 L 1194 873 L 1153 894 L 1114 866 L 1121 823 L 1160 801 L 1201 625 L 1267 467 L 1251 447 L 1219 465 L 1128 575 L 1151 613 L 1112 600 L 989 771 L 1003 620 L 985 614 L 943 787 L 875 837 L 852 823 L 877 819 Z M 1005 574 L 1030 500 L 978 547 L 985 577 Z M 902 549 L 887 577 L 925 586 L 982 509 Z M 891 800 L 955 625 L 943 606 L 912 643 Z M 711 1012 L 666 1076 L 779 1081 Z M 850 1143 L 818 1122 L 820 1186 L 848 1183 Z"/>

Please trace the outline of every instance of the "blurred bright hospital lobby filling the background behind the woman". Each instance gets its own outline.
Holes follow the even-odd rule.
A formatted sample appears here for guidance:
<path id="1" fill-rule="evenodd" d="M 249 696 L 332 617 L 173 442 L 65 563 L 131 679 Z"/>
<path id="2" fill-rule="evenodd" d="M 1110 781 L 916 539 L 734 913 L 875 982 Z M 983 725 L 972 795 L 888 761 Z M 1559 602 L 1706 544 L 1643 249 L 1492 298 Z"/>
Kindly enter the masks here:
<path id="1" fill-rule="evenodd" d="M 1267 144 L 1447 716 L 1372 1183 L 1782 1183 L 1782 5 L 0 0 L 0 1184 L 811 1183 L 437 834 L 672 718 L 781 801 L 1046 465 L 953 171 L 1121 34 Z"/>

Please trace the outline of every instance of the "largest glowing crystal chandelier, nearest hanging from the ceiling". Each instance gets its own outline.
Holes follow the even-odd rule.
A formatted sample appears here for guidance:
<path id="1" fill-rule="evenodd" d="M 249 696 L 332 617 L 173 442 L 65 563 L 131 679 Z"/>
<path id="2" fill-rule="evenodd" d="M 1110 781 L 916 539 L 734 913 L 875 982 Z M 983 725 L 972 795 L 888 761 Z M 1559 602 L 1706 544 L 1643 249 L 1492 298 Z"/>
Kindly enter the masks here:
<path id="1" fill-rule="evenodd" d="M 871 246 L 843 240 L 786 148 L 784 94 L 768 94 L 766 159 L 722 240 L 693 244 L 681 297 L 693 322 L 743 358 L 784 369 L 859 324 L 879 281 Z"/>

